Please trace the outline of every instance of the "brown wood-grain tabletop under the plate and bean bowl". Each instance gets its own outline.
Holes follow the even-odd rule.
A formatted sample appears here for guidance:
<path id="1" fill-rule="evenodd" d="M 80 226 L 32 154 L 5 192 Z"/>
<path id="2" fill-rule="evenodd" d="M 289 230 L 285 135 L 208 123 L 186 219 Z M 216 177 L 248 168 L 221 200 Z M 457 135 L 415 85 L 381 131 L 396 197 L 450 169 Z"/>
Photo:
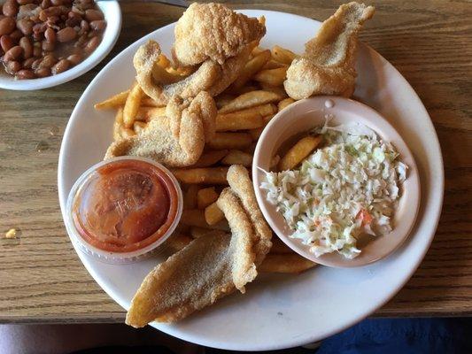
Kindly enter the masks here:
<path id="1" fill-rule="evenodd" d="M 423 0 L 377 3 L 375 18 L 361 39 L 395 65 L 422 98 L 439 135 L 446 182 L 444 211 L 422 266 L 375 315 L 471 315 L 472 5 Z M 339 4 L 231 3 L 235 8 L 295 12 L 313 19 L 326 19 Z M 123 4 L 122 11 L 119 41 L 89 73 L 53 89 L 0 91 L 0 231 L 3 236 L 16 227 L 21 234 L 17 241 L 0 240 L 0 322 L 124 319 L 120 306 L 97 286 L 75 254 L 59 211 L 57 189 L 61 137 L 89 81 L 130 43 L 182 13 L 149 3 Z"/>

